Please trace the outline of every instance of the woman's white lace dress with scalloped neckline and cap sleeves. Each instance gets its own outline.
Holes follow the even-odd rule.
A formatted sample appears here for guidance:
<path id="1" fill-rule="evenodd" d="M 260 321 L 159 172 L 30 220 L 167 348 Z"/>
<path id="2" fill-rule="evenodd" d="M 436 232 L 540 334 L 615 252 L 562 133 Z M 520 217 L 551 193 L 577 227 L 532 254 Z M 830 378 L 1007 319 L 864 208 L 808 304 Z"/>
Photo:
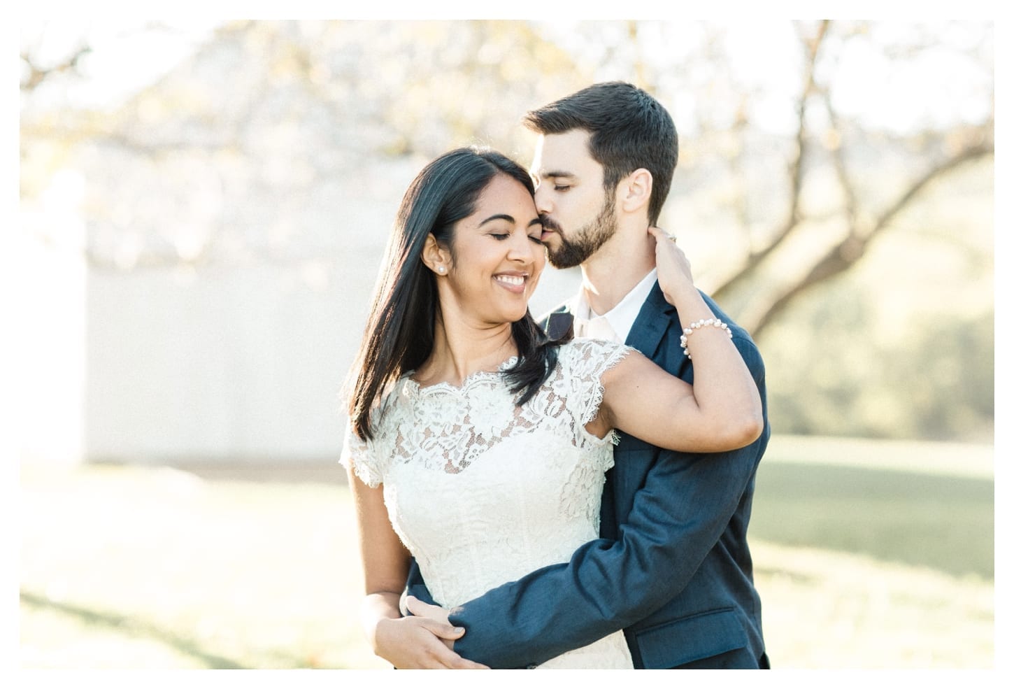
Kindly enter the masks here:
<path id="1" fill-rule="evenodd" d="M 613 436 L 585 424 L 598 412 L 602 373 L 630 351 L 599 340 L 562 345 L 556 369 L 522 407 L 499 372 L 475 373 L 460 388 L 420 388 L 406 376 L 384 398 L 373 440 L 346 434 L 342 463 L 383 485 L 394 531 L 441 606 L 567 562 L 598 538 Z M 538 667 L 633 663 L 615 632 Z"/>

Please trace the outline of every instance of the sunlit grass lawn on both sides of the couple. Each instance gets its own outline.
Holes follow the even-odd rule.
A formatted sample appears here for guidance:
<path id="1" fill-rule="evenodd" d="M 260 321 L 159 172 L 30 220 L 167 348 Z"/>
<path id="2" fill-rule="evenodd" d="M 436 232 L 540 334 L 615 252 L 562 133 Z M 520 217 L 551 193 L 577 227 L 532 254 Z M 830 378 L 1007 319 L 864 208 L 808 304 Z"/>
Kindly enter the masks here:
<path id="1" fill-rule="evenodd" d="M 772 441 L 751 542 L 775 666 L 993 667 L 987 451 L 877 446 Z M 202 476 L 22 467 L 20 666 L 386 668 L 341 469 Z"/>

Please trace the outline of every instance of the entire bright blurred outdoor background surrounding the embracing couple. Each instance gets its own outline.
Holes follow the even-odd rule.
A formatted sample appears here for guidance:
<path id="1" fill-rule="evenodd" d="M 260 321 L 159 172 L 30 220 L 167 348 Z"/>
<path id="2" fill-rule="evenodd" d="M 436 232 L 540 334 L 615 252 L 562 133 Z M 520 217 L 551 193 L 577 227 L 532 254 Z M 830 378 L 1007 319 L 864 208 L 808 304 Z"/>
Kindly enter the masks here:
<path id="1" fill-rule="evenodd" d="M 21 666 L 387 667 L 337 457 L 397 203 L 455 146 L 527 165 L 527 110 L 622 79 L 679 132 L 661 226 L 767 363 L 773 664 L 992 668 L 993 38 L 23 23 Z"/>

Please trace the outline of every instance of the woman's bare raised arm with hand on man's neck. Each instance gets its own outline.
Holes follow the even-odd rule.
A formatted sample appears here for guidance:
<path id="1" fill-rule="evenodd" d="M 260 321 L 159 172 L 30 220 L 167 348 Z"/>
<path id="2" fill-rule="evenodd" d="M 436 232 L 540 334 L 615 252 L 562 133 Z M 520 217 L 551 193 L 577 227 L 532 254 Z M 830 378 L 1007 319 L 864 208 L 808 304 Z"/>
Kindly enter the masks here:
<path id="1" fill-rule="evenodd" d="M 755 440 L 764 430 L 760 396 L 749 369 L 726 328 L 694 286 L 690 262 L 660 229 L 656 240 L 658 282 L 665 300 L 676 307 L 694 361 L 694 386 L 633 353 L 602 375 L 605 394 L 588 430 L 608 428 L 682 452 L 723 452 Z M 711 319 L 709 323 L 708 320 Z"/>

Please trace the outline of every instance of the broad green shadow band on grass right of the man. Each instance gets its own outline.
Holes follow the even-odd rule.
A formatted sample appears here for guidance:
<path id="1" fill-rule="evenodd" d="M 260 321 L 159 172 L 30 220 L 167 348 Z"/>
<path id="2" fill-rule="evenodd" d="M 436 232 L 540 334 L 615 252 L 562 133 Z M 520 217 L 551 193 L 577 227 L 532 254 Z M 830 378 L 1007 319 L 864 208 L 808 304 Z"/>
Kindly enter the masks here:
<path id="1" fill-rule="evenodd" d="M 762 462 L 750 536 L 992 579 L 993 519 L 988 479 Z"/>

